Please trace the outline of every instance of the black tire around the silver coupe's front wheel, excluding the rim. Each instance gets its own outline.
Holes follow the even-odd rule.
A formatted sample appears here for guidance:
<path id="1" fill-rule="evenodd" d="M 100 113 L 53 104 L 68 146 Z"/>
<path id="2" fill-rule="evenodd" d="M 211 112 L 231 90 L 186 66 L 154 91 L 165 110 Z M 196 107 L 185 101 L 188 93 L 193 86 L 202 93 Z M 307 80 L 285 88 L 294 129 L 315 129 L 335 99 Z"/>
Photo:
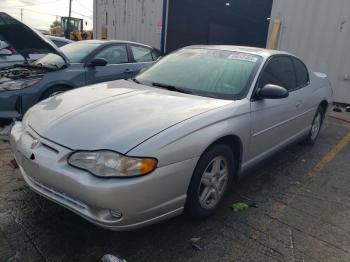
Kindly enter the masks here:
<path id="1" fill-rule="evenodd" d="M 207 168 L 208 164 L 218 156 L 223 156 L 227 160 L 227 165 L 229 169 L 229 180 L 226 185 L 225 193 L 222 195 L 219 203 L 212 209 L 205 209 L 201 206 L 199 202 L 198 190 L 202 179 L 202 175 Z M 234 181 L 234 176 L 236 172 L 236 161 L 234 153 L 231 148 L 225 144 L 217 144 L 210 147 L 199 159 L 196 168 L 193 172 L 192 179 L 187 191 L 187 201 L 185 205 L 185 212 L 193 219 L 203 219 L 215 212 L 215 210 L 220 206 L 224 196 L 229 191 L 228 189 L 232 187 Z"/>

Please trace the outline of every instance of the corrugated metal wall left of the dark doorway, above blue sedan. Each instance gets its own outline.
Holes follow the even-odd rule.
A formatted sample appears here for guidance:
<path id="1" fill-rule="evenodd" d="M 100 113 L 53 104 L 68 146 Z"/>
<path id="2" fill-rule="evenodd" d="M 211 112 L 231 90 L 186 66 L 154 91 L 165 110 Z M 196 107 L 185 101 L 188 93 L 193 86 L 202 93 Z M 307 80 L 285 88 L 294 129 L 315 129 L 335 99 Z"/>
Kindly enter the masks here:
<path id="1" fill-rule="evenodd" d="M 94 0 L 97 39 L 106 26 L 108 39 L 135 41 L 160 49 L 162 20 L 163 0 Z"/>

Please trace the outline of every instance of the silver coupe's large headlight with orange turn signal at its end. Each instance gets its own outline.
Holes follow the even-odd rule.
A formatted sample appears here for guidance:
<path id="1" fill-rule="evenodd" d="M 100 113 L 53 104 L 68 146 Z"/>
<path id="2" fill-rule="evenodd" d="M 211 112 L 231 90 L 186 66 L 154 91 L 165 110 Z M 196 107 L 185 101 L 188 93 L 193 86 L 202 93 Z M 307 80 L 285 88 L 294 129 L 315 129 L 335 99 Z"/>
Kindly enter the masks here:
<path id="1" fill-rule="evenodd" d="M 152 172 L 157 167 L 154 158 L 127 157 L 113 151 L 78 151 L 68 163 L 99 177 L 133 177 Z"/>

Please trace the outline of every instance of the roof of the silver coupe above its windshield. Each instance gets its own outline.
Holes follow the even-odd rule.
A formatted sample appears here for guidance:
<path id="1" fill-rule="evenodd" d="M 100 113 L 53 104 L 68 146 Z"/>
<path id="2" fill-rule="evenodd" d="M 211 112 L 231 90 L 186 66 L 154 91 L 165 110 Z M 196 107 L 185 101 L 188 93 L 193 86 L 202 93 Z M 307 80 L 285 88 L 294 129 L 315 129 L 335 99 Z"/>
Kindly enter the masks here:
<path id="1" fill-rule="evenodd" d="M 259 47 L 249 47 L 249 46 L 235 46 L 235 45 L 192 45 L 187 46 L 185 48 L 201 48 L 201 49 L 212 49 L 212 50 L 222 50 L 222 51 L 233 51 L 233 52 L 242 52 L 253 55 L 259 55 L 262 57 L 270 57 L 272 55 L 291 55 L 290 53 L 279 51 L 279 50 L 271 50 L 266 48 Z"/>

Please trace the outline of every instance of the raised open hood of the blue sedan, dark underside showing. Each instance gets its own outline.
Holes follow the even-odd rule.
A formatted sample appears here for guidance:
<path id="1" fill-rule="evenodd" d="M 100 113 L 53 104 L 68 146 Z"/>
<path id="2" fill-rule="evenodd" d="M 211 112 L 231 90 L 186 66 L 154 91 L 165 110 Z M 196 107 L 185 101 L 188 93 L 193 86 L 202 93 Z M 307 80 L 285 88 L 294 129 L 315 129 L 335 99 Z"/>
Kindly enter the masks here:
<path id="1" fill-rule="evenodd" d="M 25 58 L 34 53 L 54 53 L 68 63 L 68 58 L 41 33 L 3 12 L 0 12 L 0 39 Z"/>

